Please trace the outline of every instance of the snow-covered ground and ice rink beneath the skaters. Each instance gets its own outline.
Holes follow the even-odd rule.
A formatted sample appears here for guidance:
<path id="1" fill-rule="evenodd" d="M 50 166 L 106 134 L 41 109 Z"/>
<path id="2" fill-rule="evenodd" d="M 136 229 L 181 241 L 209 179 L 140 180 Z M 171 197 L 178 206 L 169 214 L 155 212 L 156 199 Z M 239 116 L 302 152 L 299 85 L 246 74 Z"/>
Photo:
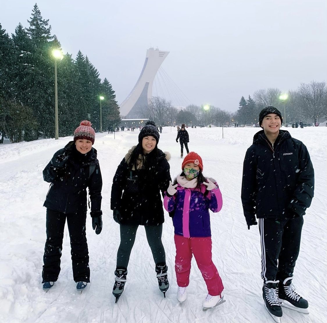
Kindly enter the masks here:
<path id="1" fill-rule="evenodd" d="M 284 128 L 283 128 L 284 129 Z M 188 298 L 181 306 L 176 299 L 173 226 L 165 213 L 163 244 L 167 254 L 170 288 L 166 298 L 159 291 L 154 262 L 139 227 L 132 250 L 128 282 L 117 304 L 112 296 L 119 226 L 112 219 L 110 191 L 114 172 L 128 149 L 137 143 L 139 131 L 114 135 L 96 134 L 103 176 L 103 230 L 96 235 L 87 219 L 91 283 L 81 295 L 76 291 L 70 261 L 70 243 L 65 229 L 61 272 L 52 290 L 42 290 L 45 208 L 48 191 L 42 170 L 53 153 L 71 137 L 59 140 L 0 145 L 0 322 L 272 322 L 263 306 L 260 278 L 260 238 L 258 227 L 249 231 L 240 200 L 242 164 L 253 134 L 259 128 L 187 129 L 190 151 L 202 156 L 204 175 L 214 177 L 221 189 L 224 205 L 212 214 L 214 263 L 225 286 L 226 302 L 202 311 L 207 291 L 195 262 L 192 262 Z M 301 251 L 294 273 L 294 284 L 308 299 L 310 314 L 284 309 L 286 322 L 322 322 L 326 315 L 326 142 L 327 127 L 288 128 L 293 137 L 304 142 L 315 168 L 315 197 L 304 216 Z M 180 145 L 176 128 L 165 127 L 159 148 L 172 155 L 171 176 L 181 172 Z M 268 197 L 267 197 L 268 198 Z"/>

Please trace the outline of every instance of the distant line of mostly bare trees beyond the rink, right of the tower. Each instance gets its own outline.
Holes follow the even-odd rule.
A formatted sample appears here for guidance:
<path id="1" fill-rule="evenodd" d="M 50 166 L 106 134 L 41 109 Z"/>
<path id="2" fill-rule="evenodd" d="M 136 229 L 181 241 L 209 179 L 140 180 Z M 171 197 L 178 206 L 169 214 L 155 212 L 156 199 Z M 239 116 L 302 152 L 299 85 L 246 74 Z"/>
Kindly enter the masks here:
<path id="1" fill-rule="evenodd" d="M 327 87 L 326 83 L 311 81 L 301 83 L 295 91 L 283 93 L 280 89 L 260 89 L 254 92 L 253 98 L 244 96 L 239 101 L 235 112 L 222 110 L 214 105 L 188 105 L 176 108 L 171 101 L 162 97 L 152 97 L 147 106 L 138 109 L 140 118 L 153 119 L 158 125 L 178 125 L 185 123 L 189 126 L 229 126 L 234 123 L 256 124 L 259 113 L 267 105 L 278 108 L 286 123 L 302 121 L 316 123 L 319 119 L 327 119 Z M 284 118 L 285 119 L 285 118 Z M 283 120 L 285 121 L 285 120 Z"/>

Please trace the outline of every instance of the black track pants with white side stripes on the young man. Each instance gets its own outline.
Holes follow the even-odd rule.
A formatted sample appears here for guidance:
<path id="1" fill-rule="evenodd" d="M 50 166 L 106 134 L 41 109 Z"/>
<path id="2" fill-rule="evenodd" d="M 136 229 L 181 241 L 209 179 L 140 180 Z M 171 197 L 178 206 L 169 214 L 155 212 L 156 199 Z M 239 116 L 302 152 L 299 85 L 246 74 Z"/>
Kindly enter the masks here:
<path id="1" fill-rule="evenodd" d="M 301 242 L 303 217 L 259 219 L 261 240 L 261 277 L 281 282 L 293 277 Z"/>

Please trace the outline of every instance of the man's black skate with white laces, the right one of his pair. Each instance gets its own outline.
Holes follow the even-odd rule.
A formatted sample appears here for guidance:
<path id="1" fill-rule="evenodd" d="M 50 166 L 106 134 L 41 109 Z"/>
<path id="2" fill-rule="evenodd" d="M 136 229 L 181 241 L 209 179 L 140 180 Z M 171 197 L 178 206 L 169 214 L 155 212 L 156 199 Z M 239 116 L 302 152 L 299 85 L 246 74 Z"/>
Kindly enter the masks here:
<path id="1" fill-rule="evenodd" d="M 309 314 L 308 301 L 297 293 L 292 284 L 292 277 L 288 277 L 283 283 L 279 283 L 279 299 L 282 306 L 303 314 Z"/>

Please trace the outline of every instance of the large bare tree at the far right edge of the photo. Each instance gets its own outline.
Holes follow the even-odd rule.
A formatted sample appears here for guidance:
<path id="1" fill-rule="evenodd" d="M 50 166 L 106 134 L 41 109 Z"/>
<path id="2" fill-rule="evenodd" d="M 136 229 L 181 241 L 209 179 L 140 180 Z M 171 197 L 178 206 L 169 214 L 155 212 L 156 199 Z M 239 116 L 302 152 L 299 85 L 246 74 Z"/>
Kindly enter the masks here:
<path id="1" fill-rule="evenodd" d="M 301 83 L 298 92 L 302 101 L 301 109 L 309 114 L 314 122 L 317 122 L 319 117 L 326 115 L 327 88 L 325 82 Z"/>

